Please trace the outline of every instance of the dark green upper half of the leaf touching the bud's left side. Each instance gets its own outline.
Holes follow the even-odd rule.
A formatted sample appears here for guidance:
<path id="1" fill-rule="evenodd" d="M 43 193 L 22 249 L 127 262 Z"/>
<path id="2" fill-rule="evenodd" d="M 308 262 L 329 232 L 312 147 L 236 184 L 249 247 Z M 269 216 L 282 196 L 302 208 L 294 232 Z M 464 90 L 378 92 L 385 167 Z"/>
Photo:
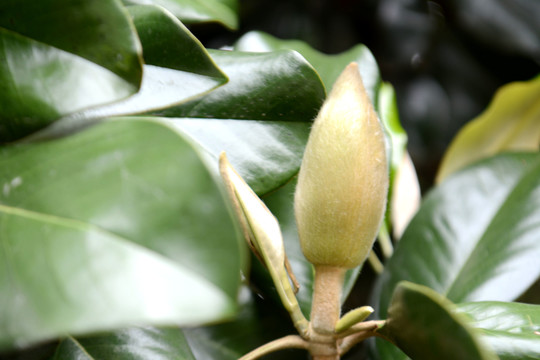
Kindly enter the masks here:
<path id="1" fill-rule="evenodd" d="M 205 96 L 154 112 L 168 117 L 312 121 L 324 97 L 313 68 L 297 53 L 210 51 L 229 83 Z"/>

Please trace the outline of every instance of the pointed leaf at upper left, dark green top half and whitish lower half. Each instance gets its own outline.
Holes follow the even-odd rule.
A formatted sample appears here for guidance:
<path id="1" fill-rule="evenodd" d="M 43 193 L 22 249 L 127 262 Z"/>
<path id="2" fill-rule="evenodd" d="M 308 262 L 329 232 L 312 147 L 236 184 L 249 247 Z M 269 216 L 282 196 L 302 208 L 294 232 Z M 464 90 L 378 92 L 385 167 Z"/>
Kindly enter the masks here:
<path id="1" fill-rule="evenodd" d="M 72 114 L 47 129 L 47 135 L 96 118 L 166 108 L 227 82 L 199 40 L 168 11 L 153 5 L 130 6 L 128 10 L 143 46 L 141 89 L 126 100 Z"/>

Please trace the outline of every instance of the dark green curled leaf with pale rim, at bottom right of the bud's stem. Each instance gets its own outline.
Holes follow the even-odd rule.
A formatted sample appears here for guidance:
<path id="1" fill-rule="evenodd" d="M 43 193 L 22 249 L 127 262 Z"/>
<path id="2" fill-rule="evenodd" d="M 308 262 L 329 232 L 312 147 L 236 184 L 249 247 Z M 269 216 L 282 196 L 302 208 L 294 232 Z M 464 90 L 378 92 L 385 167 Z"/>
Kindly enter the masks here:
<path id="1" fill-rule="evenodd" d="M 430 288 L 401 282 L 381 332 L 415 360 L 497 359 L 452 309 L 450 301 Z"/>

